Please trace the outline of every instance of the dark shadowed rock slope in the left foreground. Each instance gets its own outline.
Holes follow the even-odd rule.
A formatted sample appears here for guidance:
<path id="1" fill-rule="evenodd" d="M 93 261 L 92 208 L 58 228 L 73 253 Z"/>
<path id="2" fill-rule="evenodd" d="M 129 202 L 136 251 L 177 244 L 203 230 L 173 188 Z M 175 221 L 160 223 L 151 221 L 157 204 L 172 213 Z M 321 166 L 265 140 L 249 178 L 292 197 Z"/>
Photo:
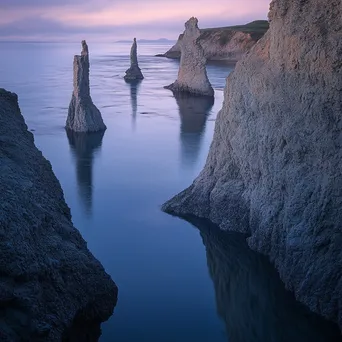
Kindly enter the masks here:
<path id="1" fill-rule="evenodd" d="M 17 95 L 4 89 L 0 235 L 0 340 L 97 341 L 100 323 L 116 304 L 117 287 L 73 227 L 61 186 L 34 145 Z"/>

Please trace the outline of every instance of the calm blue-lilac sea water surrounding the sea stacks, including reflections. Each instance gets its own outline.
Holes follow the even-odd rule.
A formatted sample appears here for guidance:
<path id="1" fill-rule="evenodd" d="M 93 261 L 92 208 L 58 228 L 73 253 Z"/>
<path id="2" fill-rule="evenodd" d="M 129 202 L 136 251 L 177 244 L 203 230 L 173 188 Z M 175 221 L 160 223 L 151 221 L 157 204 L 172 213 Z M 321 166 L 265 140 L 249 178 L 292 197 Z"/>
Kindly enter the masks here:
<path id="1" fill-rule="evenodd" d="M 67 135 L 73 55 L 80 44 L 1 43 L 0 87 L 22 113 L 60 180 L 73 222 L 119 287 L 101 342 L 337 341 L 334 327 L 294 301 L 244 237 L 195 226 L 160 205 L 203 167 L 228 65 L 209 65 L 215 103 L 163 89 L 178 62 L 141 44 L 138 85 L 123 80 L 129 44 L 91 44 L 91 94 L 104 134 Z"/>

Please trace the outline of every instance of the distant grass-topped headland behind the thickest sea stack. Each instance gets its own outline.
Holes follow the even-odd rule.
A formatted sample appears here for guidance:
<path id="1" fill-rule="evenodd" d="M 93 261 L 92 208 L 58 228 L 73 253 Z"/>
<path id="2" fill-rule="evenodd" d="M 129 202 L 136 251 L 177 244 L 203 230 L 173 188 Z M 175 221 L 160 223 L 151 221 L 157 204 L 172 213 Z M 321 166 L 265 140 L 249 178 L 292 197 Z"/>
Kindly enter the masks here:
<path id="1" fill-rule="evenodd" d="M 198 42 L 203 47 L 207 60 L 227 60 L 237 62 L 265 34 L 269 24 L 257 20 L 246 25 L 201 29 Z M 174 46 L 158 57 L 180 58 L 181 34 Z"/>

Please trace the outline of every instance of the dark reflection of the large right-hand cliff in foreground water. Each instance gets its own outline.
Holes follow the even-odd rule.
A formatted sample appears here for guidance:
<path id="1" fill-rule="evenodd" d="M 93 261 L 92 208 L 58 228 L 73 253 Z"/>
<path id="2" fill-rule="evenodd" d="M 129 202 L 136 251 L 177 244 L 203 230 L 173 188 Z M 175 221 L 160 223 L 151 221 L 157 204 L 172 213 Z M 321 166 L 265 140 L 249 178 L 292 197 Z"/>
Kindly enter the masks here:
<path id="1" fill-rule="evenodd" d="M 296 302 L 245 236 L 191 220 L 200 229 L 218 314 L 229 342 L 337 342 L 339 329 Z"/>

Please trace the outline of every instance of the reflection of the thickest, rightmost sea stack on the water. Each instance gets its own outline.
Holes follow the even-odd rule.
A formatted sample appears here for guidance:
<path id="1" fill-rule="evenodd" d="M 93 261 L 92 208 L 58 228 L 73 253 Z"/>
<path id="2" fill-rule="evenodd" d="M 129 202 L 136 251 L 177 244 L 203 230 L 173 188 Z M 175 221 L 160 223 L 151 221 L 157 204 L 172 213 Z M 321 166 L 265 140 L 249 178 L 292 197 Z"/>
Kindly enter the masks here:
<path id="1" fill-rule="evenodd" d="M 202 136 L 214 98 L 174 93 L 181 119 L 181 163 L 192 166 L 201 150 Z"/>

